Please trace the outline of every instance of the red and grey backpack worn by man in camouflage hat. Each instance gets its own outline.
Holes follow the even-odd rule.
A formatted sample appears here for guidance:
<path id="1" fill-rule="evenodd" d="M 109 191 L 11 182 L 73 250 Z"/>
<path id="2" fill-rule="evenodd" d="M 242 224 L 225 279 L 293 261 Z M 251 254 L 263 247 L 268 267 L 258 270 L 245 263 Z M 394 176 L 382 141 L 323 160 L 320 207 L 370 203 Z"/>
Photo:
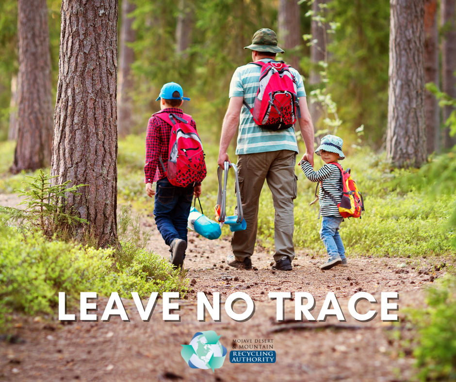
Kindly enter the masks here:
<path id="1" fill-rule="evenodd" d="M 292 127 L 301 117 L 296 79 L 283 61 L 250 63 L 261 66 L 260 86 L 253 108 L 244 101 L 256 124 L 268 130 Z"/>

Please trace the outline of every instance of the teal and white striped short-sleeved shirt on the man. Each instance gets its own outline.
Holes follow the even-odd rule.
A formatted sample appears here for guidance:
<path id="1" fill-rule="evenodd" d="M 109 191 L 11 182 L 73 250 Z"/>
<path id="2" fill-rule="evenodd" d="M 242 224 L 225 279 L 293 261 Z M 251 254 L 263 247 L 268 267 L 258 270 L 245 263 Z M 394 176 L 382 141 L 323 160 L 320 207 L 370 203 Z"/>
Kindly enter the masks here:
<path id="1" fill-rule="evenodd" d="M 273 61 L 262 59 L 263 62 Z M 305 97 L 304 83 L 297 70 L 290 68 L 296 79 L 298 97 Z M 252 108 L 260 86 L 261 67 L 254 64 L 247 64 L 238 67 L 229 84 L 229 97 L 242 97 Z M 282 131 L 269 131 L 258 126 L 253 116 L 243 105 L 241 109 L 241 120 L 239 123 L 238 144 L 236 155 L 263 153 L 265 151 L 292 150 L 299 153 L 298 144 L 294 135 L 294 128 L 290 127 Z"/>

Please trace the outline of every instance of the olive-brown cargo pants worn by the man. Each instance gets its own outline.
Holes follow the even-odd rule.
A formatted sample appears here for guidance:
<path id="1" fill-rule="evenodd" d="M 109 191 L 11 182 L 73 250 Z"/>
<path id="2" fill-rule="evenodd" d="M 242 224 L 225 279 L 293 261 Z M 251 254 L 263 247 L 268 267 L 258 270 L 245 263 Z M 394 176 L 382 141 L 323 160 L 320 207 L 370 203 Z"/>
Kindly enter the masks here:
<path id="1" fill-rule="evenodd" d="M 242 261 L 253 255 L 258 227 L 258 205 L 261 189 L 266 179 L 272 192 L 274 209 L 274 260 L 287 255 L 294 258 L 293 199 L 296 198 L 297 176 L 294 174 L 296 152 L 292 150 L 269 151 L 238 156 L 239 187 L 247 228 L 233 232 L 231 249 Z M 272 213 L 272 211 L 268 211 Z M 237 211 L 236 211 L 237 214 Z"/>

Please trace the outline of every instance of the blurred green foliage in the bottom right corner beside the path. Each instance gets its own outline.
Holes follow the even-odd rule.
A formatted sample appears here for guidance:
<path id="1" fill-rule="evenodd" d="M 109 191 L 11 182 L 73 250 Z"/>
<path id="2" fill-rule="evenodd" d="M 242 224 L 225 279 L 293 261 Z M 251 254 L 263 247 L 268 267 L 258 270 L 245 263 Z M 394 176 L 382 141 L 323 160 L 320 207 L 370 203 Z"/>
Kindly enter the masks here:
<path id="1" fill-rule="evenodd" d="M 454 272 L 453 272 L 454 273 Z M 411 313 L 418 328 L 413 354 L 420 381 L 456 381 L 456 277 L 428 291 L 428 306 Z"/>

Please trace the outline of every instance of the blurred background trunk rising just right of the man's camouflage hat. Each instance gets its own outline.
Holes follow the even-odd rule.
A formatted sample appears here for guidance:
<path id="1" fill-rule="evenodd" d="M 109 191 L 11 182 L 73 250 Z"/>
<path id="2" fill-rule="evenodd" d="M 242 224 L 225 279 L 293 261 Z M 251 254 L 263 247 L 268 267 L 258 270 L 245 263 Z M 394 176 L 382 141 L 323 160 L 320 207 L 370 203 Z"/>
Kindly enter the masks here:
<path id="1" fill-rule="evenodd" d="M 301 45 L 299 25 L 299 4 L 297 0 L 279 0 L 278 3 L 278 37 L 280 48 L 285 50 L 287 62 L 299 70 L 299 52 L 287 49 L 298 49 Z"/>

